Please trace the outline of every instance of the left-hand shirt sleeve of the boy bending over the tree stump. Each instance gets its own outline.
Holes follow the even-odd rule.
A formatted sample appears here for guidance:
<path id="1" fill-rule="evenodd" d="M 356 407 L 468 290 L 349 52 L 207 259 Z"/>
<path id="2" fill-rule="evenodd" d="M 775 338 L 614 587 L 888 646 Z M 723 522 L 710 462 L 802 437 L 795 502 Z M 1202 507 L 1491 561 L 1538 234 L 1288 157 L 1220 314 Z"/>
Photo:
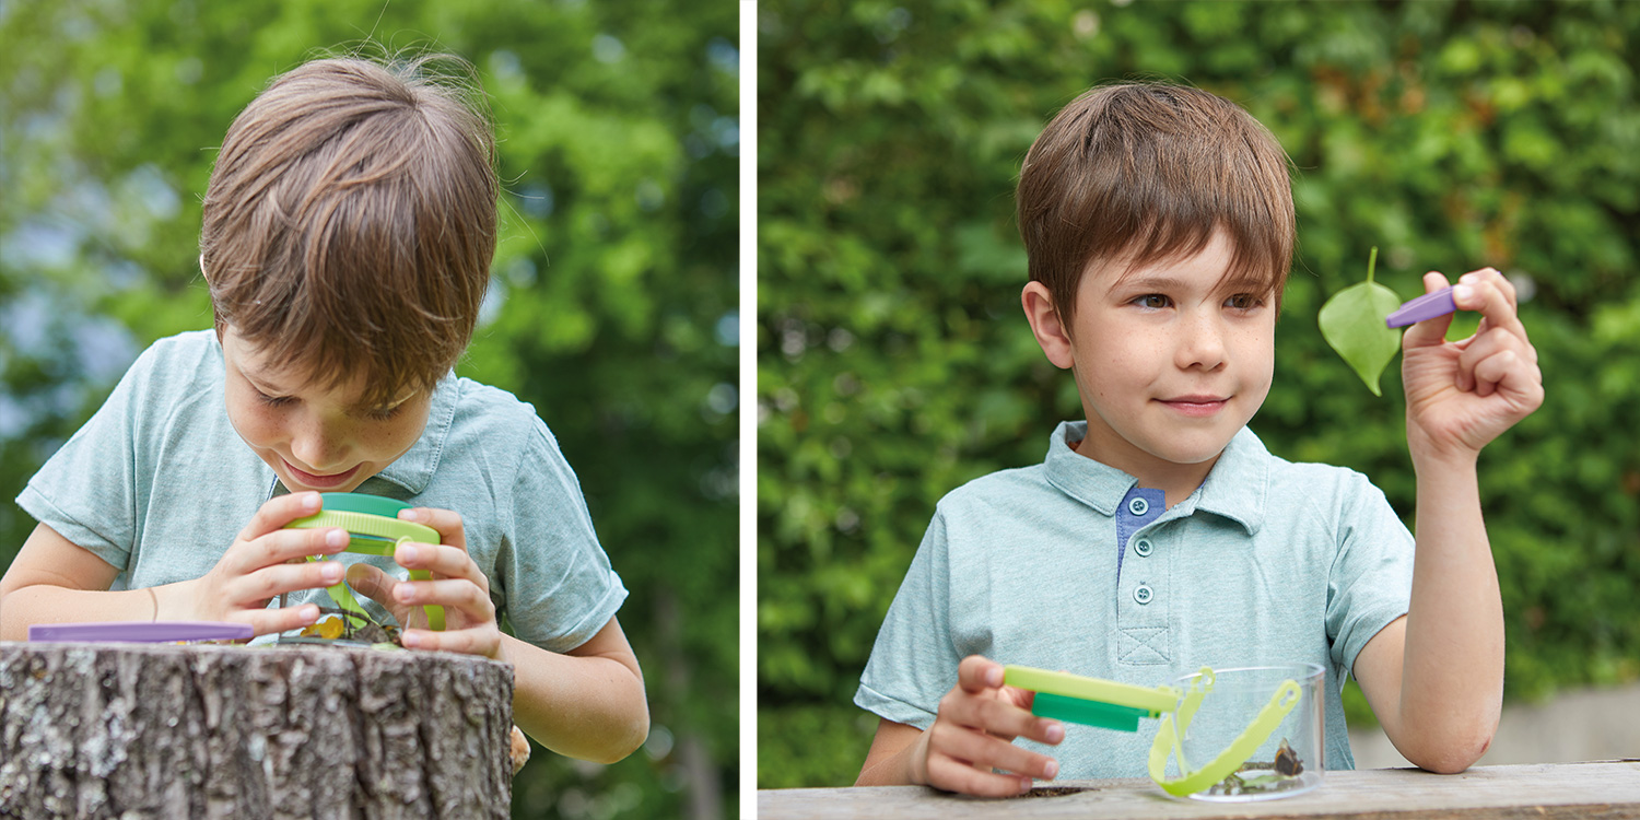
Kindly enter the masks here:
<path id="1" fill-rule="evenodd" d="M 90 421 L 46 459 L 16 497 L 36 522 L 120 571 L 136 543 L 138 438 L 157 358 L 154 348 L 144 351 Z"/>

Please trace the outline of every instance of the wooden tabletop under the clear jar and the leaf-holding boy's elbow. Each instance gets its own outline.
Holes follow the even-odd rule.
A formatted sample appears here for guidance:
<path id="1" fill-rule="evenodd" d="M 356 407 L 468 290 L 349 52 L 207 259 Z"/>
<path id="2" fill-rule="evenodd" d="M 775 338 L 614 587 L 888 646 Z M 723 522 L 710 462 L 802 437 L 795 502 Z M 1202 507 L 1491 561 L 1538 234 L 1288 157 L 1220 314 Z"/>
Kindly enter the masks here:
<path id="1" fill-rule="evenodd" d="M 1071 790 L 1079 789 L 1079 790 Z M 1069 794 L 1064 794 L 1069 792 Z M 1640 817 L 1640 759 L 1481 766 L 1463 774 L 1422 769 L 1330 771 L 1309 794 L 1253 804 L 1168 797 L 1148 779 L 1063 781 L 1040 797 L 977 799 L 920 786 L 768 789 L 759 820 L 787 818 L 1215 818 L 1215 817 Z"/>

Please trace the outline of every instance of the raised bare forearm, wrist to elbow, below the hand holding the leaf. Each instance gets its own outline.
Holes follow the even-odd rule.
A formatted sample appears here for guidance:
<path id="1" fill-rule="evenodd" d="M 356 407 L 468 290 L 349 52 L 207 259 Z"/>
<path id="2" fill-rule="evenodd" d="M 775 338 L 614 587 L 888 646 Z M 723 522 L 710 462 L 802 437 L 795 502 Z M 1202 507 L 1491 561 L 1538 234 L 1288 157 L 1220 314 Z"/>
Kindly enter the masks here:
<path id="1" fill-rule="evenodd" d="M 1432 771 L 1461 771 L 1497 730 L 1504 612 L 1473 454 L 1414 449 L 1417 558 L 1396 746 Z M 1386 725 L 1387 727 L 1387 725 Z"/>

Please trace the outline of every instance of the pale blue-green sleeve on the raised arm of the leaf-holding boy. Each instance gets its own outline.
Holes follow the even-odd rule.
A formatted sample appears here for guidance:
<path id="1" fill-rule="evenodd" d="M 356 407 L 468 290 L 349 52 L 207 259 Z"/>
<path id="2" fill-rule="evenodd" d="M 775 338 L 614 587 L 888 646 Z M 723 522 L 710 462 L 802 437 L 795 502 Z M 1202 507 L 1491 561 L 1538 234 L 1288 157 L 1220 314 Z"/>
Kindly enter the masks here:
<path id="1" fill-rule="evenodd" d="M 1361 648 L 1407 613 L 1412 600 L 1412 533 L 1384 492 L 1361 474 L 1343 487 L 1338 553 L 1327 576 L 1332 659 L 1351 674 Z"/>

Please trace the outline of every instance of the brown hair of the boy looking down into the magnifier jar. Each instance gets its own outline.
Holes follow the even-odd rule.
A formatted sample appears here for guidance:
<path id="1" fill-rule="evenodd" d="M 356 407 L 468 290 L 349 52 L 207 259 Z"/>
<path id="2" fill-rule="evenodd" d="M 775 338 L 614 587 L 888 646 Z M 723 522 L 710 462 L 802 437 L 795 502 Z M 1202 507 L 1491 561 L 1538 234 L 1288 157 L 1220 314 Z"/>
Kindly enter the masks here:
<path id="1" fill-rule="evenodd" d="M 430 77 L 449 61 L 466 77 Z M 472 338 L 495 254 L 495 138 L 448 56 L 320 59 L 228 126 L 200 264 L 218 333 L 367 407 L 431 390 Z"/>

